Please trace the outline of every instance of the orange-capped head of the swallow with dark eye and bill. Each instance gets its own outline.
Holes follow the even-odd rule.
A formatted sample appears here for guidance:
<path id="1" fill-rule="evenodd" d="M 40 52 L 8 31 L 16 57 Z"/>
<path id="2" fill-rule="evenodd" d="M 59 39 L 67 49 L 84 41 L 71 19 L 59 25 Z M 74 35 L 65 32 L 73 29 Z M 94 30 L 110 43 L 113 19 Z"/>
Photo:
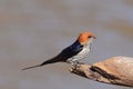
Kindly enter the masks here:
<path id="1" fill-rule="evenodd" d="M 92 32 L 81 32 L 78 38 L 81 44 L 91 43 L 93 39 L 95 39 L 95 37 Z"/>

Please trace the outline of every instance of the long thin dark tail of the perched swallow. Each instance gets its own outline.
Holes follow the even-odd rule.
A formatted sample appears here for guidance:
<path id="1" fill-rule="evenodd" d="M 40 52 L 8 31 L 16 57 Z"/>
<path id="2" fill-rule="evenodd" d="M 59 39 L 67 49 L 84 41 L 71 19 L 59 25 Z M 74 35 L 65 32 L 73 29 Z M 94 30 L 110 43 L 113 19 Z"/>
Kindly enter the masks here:
<path id="1" fill-rule="evenodd" d="M 47 60 L 47 61 L 42 62 L 41 65 L 37 65 L 37 66 L 23 68 L 22 70 L 27 70 L 27 69 L 31 69 L 31 68 L 37 68 L 37 67 L 42 67 L 42 66 L 44 66 L 44 65 L 55 63 L 55 62 L 58 62 L 58 61 L 59 61 L 59 60 L 57 60 L 57 58 L 52 58 L 52 59 L 50 59 L 50 60 Z"/>

